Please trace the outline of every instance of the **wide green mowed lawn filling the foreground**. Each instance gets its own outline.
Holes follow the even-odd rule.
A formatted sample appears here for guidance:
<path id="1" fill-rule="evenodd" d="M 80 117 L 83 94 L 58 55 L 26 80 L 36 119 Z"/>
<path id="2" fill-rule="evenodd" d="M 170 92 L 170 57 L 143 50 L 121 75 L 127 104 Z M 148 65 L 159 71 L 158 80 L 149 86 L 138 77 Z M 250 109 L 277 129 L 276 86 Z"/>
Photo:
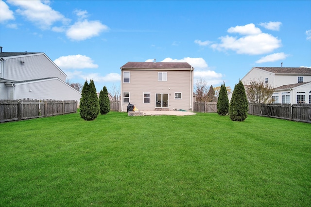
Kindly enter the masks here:
<path id="1" fill-rule="evenodd" d="M 0 124 L 0 206 L 311 206 L 311 124 L 67 114 Z"/>

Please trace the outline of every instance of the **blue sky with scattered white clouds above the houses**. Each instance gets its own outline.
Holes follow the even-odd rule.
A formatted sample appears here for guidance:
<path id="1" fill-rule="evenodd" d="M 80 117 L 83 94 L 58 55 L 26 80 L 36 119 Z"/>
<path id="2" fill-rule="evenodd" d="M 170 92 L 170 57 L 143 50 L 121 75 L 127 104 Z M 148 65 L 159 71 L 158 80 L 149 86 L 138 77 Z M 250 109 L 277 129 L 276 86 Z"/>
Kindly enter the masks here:
<path id="1" fill-rule="evenodd" d="M 233 90 L 252 67 L 311 67 L 311 0 L 0 0 L 0 46 L 44 52 L 98 92 L 154 59 Z"/>

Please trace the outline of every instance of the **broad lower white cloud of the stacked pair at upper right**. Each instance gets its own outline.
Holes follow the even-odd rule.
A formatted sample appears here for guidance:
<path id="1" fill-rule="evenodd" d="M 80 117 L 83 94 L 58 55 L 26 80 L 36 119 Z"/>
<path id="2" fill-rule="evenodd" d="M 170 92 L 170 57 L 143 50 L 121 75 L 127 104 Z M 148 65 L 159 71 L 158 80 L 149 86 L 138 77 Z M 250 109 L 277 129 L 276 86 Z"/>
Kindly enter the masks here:
<path id="1" fill-rule="evenodd" d="M 220 51 L 231 49 L 238 54 L 260 55 L 281 47 L 281 40 L 267 33 L 247 35 L 241 38 L 227 35 L 220 39 L 222 43 L 212 44 L 211 48 Z"/>

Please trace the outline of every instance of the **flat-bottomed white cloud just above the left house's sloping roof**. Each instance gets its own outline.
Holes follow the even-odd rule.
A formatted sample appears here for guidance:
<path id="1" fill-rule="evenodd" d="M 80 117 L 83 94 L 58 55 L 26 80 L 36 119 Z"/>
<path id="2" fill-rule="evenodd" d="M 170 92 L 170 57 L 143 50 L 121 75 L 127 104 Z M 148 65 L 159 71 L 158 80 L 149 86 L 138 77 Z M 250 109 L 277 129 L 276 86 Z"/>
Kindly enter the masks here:
<path id="1" fill-rule="evenodd" d="M 90 57 L 85 55 L 61 56 L 54 60 L 54 63 L 61 69 L 98 68 L 98 65 L 93 62 Z"/>

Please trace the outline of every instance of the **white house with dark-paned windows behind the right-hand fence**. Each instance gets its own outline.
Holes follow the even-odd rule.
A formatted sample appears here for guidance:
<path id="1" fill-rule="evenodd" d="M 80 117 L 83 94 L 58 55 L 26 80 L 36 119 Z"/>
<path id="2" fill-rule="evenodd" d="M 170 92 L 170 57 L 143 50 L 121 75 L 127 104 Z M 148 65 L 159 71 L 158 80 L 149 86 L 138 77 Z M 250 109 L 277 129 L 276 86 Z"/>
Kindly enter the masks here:
<path id="1" fill-rule="evenodd" d="M 311 103 L 311 68 L 308 67 L 253 67 L 243 78 L 264 81 L 275 88 L 273 103 Z M 232 93 L 228 96 L 231 99 Z"/>

